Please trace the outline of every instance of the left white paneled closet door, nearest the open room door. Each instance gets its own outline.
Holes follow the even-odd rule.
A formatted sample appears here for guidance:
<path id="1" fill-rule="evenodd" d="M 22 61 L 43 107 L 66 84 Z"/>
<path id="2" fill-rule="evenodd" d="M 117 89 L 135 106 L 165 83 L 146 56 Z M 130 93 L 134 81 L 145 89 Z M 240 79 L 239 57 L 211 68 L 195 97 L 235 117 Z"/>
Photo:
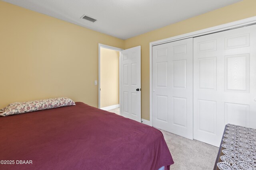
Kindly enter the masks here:
<path id="1" fill-rule="evenodd" d="M 193 40 L 152 48 L 152 125 L 193 139 Z"/>

